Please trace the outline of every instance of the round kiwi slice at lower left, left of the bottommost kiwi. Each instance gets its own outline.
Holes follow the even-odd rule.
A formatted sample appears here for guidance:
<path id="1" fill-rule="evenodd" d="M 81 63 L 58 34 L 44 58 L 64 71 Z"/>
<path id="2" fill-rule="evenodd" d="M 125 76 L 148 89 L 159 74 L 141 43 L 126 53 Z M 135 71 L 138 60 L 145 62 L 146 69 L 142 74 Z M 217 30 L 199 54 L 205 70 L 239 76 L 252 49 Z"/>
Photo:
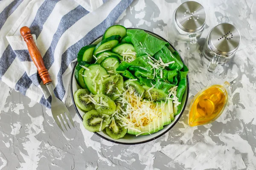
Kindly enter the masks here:
<path id="1" fill-rule="evenodd" d="M 85 113 L 83 119 L 85 129 L 90 132 L 102 131 L 111 122 L 108 116 L 104 116 L 96 110 Z"/>

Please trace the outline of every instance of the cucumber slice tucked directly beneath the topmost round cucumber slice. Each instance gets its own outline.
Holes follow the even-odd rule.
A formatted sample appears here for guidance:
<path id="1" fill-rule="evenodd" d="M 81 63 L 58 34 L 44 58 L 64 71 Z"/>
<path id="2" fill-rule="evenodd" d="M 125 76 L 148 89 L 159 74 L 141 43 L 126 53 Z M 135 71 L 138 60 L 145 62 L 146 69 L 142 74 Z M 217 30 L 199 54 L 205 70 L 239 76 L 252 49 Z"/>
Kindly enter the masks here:
<path id="1" fill-rule="evenodd" d="M 120 35 L 112 35 L 111 37 L 108 37 L 104 40 L 102 40 L 101 42 L 99 42 L 98 45 L 96 45 L 96 47 L 93 50 L 93 55 L 97 55 L 100 52 L 103 52 L 106 49 L 112 49 L 114 48 L 120 40 Z"/>

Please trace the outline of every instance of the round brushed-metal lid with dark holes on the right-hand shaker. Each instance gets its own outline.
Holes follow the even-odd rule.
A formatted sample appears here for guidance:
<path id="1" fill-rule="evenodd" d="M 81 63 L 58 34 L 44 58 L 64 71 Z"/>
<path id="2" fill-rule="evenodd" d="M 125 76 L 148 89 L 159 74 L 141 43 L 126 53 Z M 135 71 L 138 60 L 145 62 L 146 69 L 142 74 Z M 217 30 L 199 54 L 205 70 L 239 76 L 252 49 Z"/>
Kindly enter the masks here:
<path id="1" fill-rule="evenodd" d="M 240 33 L 235 26 L 222 23 L 212 28 L 209 34 L 209 45 L 219 54 L 230 54 L 237 50 L 240 44 Z"/>

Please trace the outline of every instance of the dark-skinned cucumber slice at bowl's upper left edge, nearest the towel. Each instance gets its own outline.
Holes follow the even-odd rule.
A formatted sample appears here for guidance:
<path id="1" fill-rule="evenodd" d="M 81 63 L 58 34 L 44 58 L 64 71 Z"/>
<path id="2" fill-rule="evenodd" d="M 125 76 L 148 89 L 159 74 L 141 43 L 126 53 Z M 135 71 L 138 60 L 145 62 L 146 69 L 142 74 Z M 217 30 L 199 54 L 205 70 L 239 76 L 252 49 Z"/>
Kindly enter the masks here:
<path id="1" fill-rule="evenodd" d="M 86 45 L 77 54 L 77 61 L 93 62 L 93 50 L 96 45 Z"/>

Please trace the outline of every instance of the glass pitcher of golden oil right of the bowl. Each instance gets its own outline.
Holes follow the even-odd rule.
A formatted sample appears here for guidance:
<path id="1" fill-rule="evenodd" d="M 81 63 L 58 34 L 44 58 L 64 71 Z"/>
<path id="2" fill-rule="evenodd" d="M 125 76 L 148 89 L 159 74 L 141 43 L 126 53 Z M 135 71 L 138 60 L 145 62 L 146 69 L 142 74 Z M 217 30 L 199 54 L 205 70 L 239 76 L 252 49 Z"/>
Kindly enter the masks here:
<path id="1" fill-rule="evenodd" d="M 223 85 L 211 85 L 198 92 L 189 107 L 189 126 L 215 121 L 226 107 L 229 86 L 229 82 L 224 82 Z"/>

